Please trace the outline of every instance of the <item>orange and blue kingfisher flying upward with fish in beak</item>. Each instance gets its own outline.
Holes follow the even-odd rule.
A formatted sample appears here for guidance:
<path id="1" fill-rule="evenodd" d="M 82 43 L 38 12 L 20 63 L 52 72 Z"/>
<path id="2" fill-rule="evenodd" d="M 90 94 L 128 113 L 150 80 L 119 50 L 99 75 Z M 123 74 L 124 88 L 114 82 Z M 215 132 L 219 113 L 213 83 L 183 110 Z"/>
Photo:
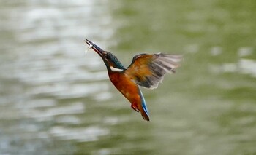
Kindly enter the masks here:
<path id="1" fill-rule="evenodd" d="M 118 58 L 111 52 L 99 48 L 96 44 L 85 39 L 89 49 L 93 49 L 102 57 L 108 70 L 110 81 L 116 89 L 124 95 L 131 103 L 131 108 L 140 112 L 142 118 L 149 121 L 148 108 L 140 87 L 155 89 L 162 82 L 165 73 L 175 73 L 181 55 L 169 55 L 163 53 L 157 54 L 139 54 L 135 55 L 132 63 L 125 68 Z"/>

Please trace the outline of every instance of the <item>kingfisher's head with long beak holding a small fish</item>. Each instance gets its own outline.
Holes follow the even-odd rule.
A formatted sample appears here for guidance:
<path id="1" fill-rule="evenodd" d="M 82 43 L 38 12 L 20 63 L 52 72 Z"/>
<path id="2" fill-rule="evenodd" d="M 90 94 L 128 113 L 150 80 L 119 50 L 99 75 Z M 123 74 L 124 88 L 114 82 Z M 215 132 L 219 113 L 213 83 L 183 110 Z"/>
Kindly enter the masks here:
<path id="1" fill-rule="evenodd" d="M 95 52 L 98 53 L 100 57 L 102 57 L 102 60 L 104 61 L 106 67 L 108 68 L 108 71 L 124 71 L 124 66 L 121 64 L 121 62 L 118 60 L 118 58 L 113 55 L 111 52 L 107 52 L 101 48 L 99 48 L 96 44 L 93 42 L 89 41 L 88 39 L 85 39 L 86 44 L 89 45 L 89 49 L 94 49 Z"/>

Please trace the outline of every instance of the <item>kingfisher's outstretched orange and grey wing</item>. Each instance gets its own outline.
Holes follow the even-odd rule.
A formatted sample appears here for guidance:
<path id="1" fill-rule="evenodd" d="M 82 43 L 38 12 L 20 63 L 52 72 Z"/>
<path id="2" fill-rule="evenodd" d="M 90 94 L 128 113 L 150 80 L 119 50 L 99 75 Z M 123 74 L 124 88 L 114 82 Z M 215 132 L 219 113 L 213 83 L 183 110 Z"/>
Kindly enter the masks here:
<path id="1" fill-rule="evenodd" d="M 138 85 L 154 89 L 162 82 L 165 73 L 175 73 L 181 58 L 181 55 L 162 53 L 135 55 L 125 73 Z"/>

